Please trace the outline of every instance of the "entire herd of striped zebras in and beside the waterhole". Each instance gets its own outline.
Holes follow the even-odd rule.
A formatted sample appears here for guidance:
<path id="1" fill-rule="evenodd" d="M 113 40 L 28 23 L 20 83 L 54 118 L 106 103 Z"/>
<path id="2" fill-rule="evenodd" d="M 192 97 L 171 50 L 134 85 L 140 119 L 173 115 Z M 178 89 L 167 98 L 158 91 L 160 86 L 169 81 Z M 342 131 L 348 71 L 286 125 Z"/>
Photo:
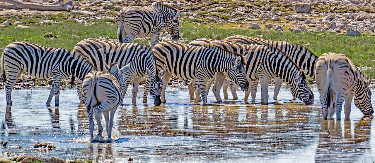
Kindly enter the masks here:
<path id="1" fill-rule="evenodd" d="M 255 103 L 258 82 L 261 85 L 261 103 L 267 104 L 267 87 L 276 78 L 274 99 L 277 99 L 283 81 L 290 85 L 293 98 L 305 104 L 314 103 L 314 94 L 306 83 L 306 75 L 315 78 L 320 93 L 324 119 L 341 120 L 345 101 L 345 119 L 349 119 L 350 103 L 365 114 L 374 111 L 371 105 L 369 85 L 372 78 L 362 75 L 344 54 L 325 53 L 315 56 L 307 48 L 285 41 L 270 41 L 234 35 L 222 41 L 198 39 L 189 44 L 179 40 L 177 10 L 164 4 L 124 7 L 116 17 L 119 42 L 85 39 L 76 44 L 73 51 L 63 48 L 44 47 L 17 41 L 5 47 L 1 57 L 1 78 L 6 82 L 7 105 L 12 105 L 12 88 L 21 73 L 34 78 L 52 78 L 53 84 L 46 104 L 53 95 L 58 107 L 60 81 L 72 76 L 78 79 L 77 91 L 80 103 L 86 104 L 90 138 L 104 141 L 101 135 L 100 114 L 103 112 L 108 139 L 111 138 L 113 117 L 117 106 L 123 102 L 130 81 L 133 81 L 132 103 L 136 103 L 141 78 L 148 76 L 143 103 L 148 92 L 158 106 L 166 103 L 165 89 L 171 76 L 191 80 L 190 100 L 207 102 L 207 93 L 215 79 L 213 93 L 222 101 L 219 92 L 223 88 L 228 98 L 230 88 L 237 99 L 236 88 L 245 91 L 245 101 L 251 94 Z M 166 30 L 174 41 L 162 41 L 159 36 Z M 126 37 L 125 37 L 126 36 Z M 131 43 L 135 38 L 151 37 L 151 47 Z M 5 65 L 9 78 L 6 80 Z M 109 114 L 111 113 L 111 114 Z M 93 115 L 98 122 L 99 134 L 93 136 Z"/>

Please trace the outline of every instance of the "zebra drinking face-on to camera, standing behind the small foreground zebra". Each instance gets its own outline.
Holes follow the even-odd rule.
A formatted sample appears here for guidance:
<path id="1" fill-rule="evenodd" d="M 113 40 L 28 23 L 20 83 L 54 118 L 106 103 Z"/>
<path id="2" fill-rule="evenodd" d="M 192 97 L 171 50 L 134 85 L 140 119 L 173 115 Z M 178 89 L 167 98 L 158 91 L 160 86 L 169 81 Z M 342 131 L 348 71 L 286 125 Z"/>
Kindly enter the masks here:
<path id="1" fill-rule="evenodd" d="M 104 70 L 104 63 L 111 65 L 118 62 L 120 67 L 131 63 L 129 71 L 124 74 L 121 87 L 123 95 L 125 95 L 127 87 L 133 79 L 132 103 L 136 104 L 139 82 L 143 76 L 148 75 L 146 84 L 151 84 L 150 94 L 154 99 L 154 105 L 158 106 L 161 104 L 160 92 L 163 84 L 161 76 L 165 74 L 165 70 L 159 73 L 156 72 L 155 59 L 149 46 L 138 43 L 117 43 L 89 38 L 78 42 L 73 51 L 85 56 L 98 70 Z M 78 81 L 77 91 L 81 99 L 82 81 Z M 146 103 L 147 94 L 144 96 L 146 98 L 143 102 Z M 83 103 L 82 99 L 80 101 Z"/>

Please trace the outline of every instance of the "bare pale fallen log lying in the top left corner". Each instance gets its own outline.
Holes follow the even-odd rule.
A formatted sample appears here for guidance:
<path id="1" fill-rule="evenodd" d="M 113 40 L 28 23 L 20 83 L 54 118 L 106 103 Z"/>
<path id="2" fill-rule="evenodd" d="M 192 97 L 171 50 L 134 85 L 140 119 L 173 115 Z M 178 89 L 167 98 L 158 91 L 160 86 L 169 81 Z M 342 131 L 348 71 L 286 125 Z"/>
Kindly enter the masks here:
<path id="1" fill-rule="evenodd" d="M 2 9 L 33 9 L 42 11 L 70 11 L 73 9 L 72 1 L 69 0 L 66 3 L 57 3 L 46 5 L 37 3 L 22 3 L 15 0 L 0 0 L 0 2 L 10 3 L 9 5 L 0 5 Z"/>

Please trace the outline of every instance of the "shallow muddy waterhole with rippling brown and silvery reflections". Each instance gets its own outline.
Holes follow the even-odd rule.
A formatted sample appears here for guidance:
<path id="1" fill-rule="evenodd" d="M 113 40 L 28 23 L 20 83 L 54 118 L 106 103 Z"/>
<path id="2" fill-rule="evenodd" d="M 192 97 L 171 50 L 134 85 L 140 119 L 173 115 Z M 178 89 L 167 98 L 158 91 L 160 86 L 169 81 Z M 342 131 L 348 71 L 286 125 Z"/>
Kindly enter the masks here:
<path id="1" fill-rule="evenodd" d="M 116 112 L 116 138 L 107 144 L 89 142 L 86 108 L 78 104 L 75 89 L 61 92 L 59 108 L 45 106 L 49 90 L 41 88 L 34 88 L 33 93 L 14 90 L 13 106 L 7 108 L 5 91 L 0 90 L 0 138 L 8 142 L 7 148 L 0 147 L 0 156 L 27 154 L 95 162 L 127 162 L 131 157 L 133 162 L 156 163 L 373 162 L 374 120 L 363 118 L 352 103 L 350 121 L 322 121 L 319 94 L 316 88 L 312 90 L 315 104 L 309 106 L 290 101 L 287 87 L 282 87 L 280 100 L 270 99 L 269 105 L 241 100 L 217 104 L 212 93 L 209 105 L 193 105 L 185 87 L 168 87 L 167 104 L 144 105 L 139 96 L 133 106 L 128 92 Z M 238 95 L 243 99 L 241 91 Z M 35 150 L 36 142 L 51 142 L 57 148 Z"/>

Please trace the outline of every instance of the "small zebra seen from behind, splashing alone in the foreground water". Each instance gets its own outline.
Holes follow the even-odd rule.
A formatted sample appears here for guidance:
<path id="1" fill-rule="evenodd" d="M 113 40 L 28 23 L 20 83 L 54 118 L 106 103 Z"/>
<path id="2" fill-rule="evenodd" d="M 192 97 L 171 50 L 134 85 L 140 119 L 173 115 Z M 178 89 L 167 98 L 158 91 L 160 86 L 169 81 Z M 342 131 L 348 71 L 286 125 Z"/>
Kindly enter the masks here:
<path id="1" fill-rule="evenodd" d="M 113 118 L 117 106 L 120 105 L 124 96 L 121 92 L 123 73 L 130 68 L 130 63 L 119 69 L 117 62 L 107 66 L 108 72 L 92 71 L 83 79 L 83 99 L 87 109 L 87 118 L 89 119 L 90 141 L 103 142 L 103 128 L 100 115 L 104 113 L 106 130 L 108 133 L 107 141 L 111 140 Z M 110 114 L 111 113 L 111 114 Z M 98 123 L 98 136 L 93 137 L 95 114 Z"/>

